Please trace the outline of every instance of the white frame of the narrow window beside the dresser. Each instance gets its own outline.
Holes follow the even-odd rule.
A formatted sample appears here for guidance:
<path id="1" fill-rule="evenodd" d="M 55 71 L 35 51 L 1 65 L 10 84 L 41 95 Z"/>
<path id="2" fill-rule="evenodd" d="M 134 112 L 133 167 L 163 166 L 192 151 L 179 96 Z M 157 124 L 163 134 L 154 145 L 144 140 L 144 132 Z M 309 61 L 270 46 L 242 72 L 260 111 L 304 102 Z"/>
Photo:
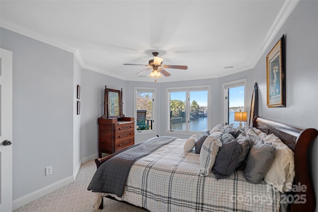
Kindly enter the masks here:
<path id="1" fill-rule="evenodd" d="M 153 122 L 151 130 L 137 130 L 137 91 L 153 93 Z M 157 89 L 155 87 L 134 87 L 134 119 L 135 119 L 135 135 L 145 135 L 157 133 L 157 116 L 156 116 L 156 96 Z"/>

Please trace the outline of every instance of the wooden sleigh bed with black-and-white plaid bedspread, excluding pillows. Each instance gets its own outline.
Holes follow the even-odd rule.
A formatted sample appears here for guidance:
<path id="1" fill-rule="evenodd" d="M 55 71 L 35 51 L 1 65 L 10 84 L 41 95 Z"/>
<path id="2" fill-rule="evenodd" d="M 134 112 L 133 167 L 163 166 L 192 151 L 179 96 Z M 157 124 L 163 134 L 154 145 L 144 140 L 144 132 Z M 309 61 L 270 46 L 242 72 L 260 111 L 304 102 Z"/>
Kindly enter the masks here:
<path id="1" fill-rule="evenodd" d="M 92 187 L 94 176 L 88 186 L 88 190 L 93 192 L 93 205 L 100 205 L 102 209 L 103 197 L 107 197 L 153 212 L 267 212 L 282 210 L 284 204 L 281 203 L 287 203 L 287 209 L 291 212 L 314 211 L 316 199 L 308 165 L 308 149 L 318 131 L 303 130 L 260 117 L 253 119 L 253 128 L 267 135 L 274 134 L 293 151 L 295 178 L 291 185 L 292 192 L 281 193 L 263 180 L 257 184 L 250 183 L 240 170 L 234 171 L 225 179 L 217 179 L 213 172 L 200 176 L 200 154 L 195 154 L 194 150 L 184 153 L 184 139 L 167 141 L 162 138 L 160 142 L 164 145 L 155 147 L 156 150 L 149 154 L 139 155 L 132 162 L 128 177 L 124 179 L 122 192 L 118 193 L 117 187 L 106 193 L 103 189 Z M 144 144 L 136 144 L 133 148 L 95 159 L 96 173 L 115 157 L 128 154 L 134 148 L 143 149 Z M 109 166 L 111 165 L 118 166 Z M 108 180 L 105 178 L 105 181 Z"/>

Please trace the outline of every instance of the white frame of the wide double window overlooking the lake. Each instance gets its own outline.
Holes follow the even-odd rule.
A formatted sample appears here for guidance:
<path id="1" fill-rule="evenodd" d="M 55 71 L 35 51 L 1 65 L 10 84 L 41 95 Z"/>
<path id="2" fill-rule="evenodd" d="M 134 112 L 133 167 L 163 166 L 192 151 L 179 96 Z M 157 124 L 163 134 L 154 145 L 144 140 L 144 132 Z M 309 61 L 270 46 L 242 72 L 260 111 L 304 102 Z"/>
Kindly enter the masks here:
<path id="1" fill-rule="evenodd" d="M 211 122 L 212 122 L 212 103 L 211 103 L 211 85 L 196 85 L 196 86 L 182 86 L 182 87 L 167 87 L 166 88 L 166 126 L 165 126 L 165 133 L 166 134 L 179 134 L 179 135 L 193 135 L 193 134 L 200 134 L 202 131 L 189 131 L 190 128 L 190 92 L 191 91 L 200 91 L 200 90 L 207 90 L 207 129 L 209 130 L 211 128 Z M 186 130 L 185 131 L 171 131 L 169 128 L 170 126 L 170 92 L 186 92 Z"/>

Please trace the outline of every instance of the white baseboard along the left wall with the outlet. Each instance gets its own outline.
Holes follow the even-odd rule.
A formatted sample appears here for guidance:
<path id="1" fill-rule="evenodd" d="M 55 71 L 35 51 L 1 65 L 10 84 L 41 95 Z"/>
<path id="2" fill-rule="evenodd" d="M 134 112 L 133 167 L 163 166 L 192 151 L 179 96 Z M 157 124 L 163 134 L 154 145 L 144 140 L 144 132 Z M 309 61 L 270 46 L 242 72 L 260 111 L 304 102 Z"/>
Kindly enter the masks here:
<path id="1" fill-rule="evenodd" d="M 34 200 L 37 200 L 47 194 L 50 194 L 51 192 L 54 192 L 70 183 L 73 183 L 74 182 L 74 177 L 73 176 L 69 176 L 69 177 L 66 177 L 62 180 L 59 180 L 55 183 L 52 183 L 48 186 L 45 186 L 43 188 L 40 188 L 34 192 L 31 192 L 27 195 L 24 195 L 18 199 L 15 199 L 12 201 L 12 209 L 15 210 L 15 209 L 18 209 L 28 203 L 31 203 L 32 201 Z"/>

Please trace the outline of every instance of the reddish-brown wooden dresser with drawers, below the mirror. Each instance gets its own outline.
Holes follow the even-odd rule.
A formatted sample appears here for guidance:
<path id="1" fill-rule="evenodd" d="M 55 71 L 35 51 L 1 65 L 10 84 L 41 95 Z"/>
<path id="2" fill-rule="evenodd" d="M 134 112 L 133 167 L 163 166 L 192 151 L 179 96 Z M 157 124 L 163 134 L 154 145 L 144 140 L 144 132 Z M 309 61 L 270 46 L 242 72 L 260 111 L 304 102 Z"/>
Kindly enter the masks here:
<path id="1" fill-rule="evenodd" d="M 133 117 L 114 119 L 98 118 L 98 157 L 101 153 L 112 154 L 135 143 Z"/>

